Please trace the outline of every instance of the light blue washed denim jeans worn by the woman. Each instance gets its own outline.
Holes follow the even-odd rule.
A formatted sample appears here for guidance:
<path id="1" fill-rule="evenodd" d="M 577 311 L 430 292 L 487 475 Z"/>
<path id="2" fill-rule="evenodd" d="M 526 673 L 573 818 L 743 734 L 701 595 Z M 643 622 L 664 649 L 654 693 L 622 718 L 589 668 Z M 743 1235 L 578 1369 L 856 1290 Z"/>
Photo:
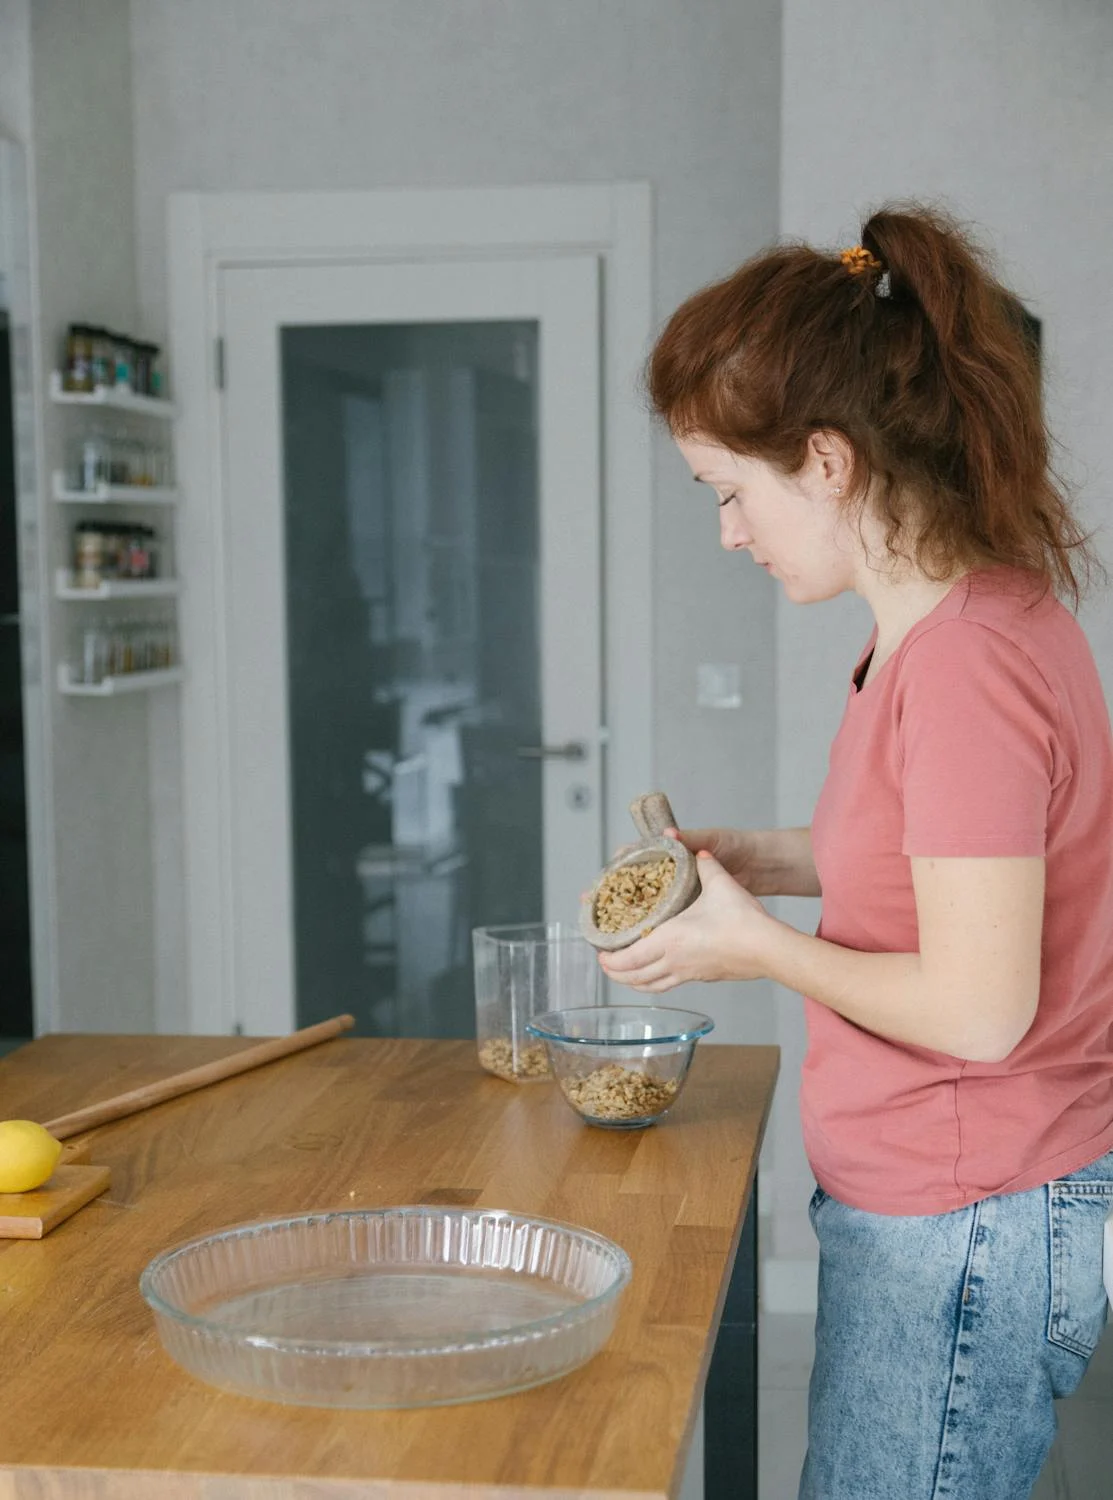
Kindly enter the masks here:
<path id="1" fill-rule="evenodd" d="M 816 1188 L 800 1500 L 1026 1500 L 1053 1398 L 1077 1388 L 1106 1324 L 1112 1209 L 1113 1152 L 952 1214 L 864 1214 Z"/>

